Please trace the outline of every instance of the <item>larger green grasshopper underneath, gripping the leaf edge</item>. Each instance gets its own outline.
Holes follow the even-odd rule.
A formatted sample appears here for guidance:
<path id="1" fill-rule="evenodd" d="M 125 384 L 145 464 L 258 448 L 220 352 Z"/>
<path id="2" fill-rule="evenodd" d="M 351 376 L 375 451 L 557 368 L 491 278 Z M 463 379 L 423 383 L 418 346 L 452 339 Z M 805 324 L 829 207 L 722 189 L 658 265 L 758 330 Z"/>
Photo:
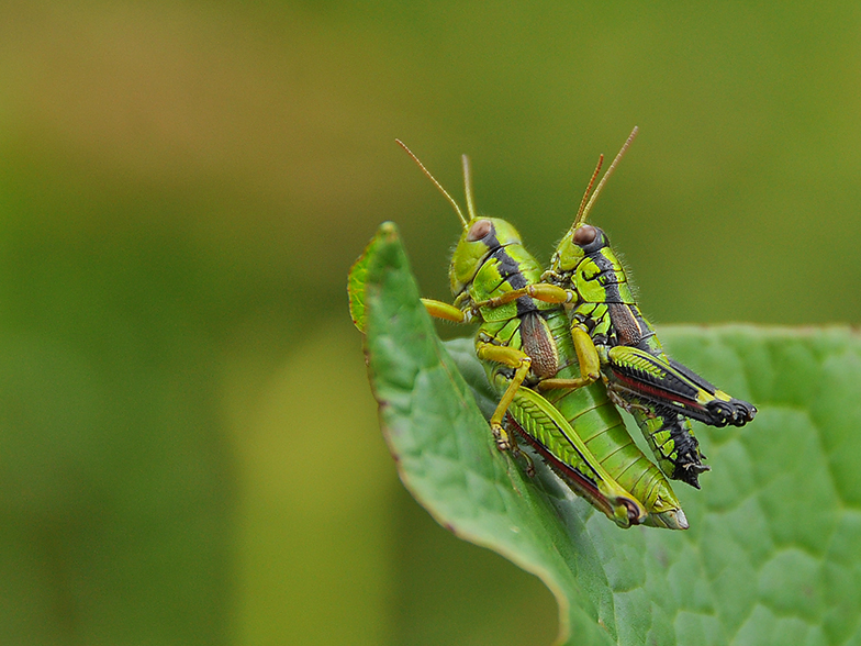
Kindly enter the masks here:
<path id="1" fill-rule="evenodd" d="M 449 270 L 454 304 L 429 299 L 423 302 L 439 319 L 480 321 L 476 354 L 501 393 L 490 419 L 497 448 L 519 453 L 515 436 L 503 426 L 508 413 L 510 428 L 578 494 L 619 526 L 645 523 L 686 528 L 684 512 L 669 482 L 634 444 L 606 389 L 595 383 L 597 361 L 578 360 L 569 319 L 560 304 L 569 293 L 556 286 L 537 285 L 541 267 L 526 252 L 514 226 L 476 214 L 466 156 L 469 220 L 415 155 L 398 143 L 451 203 L 463 225 Z M 533 286 L 530 296 L 506 298 L 528 286 Z M 536 389 L 560 397 L 570 393 L 567 401 L 577 408 L 570 413 L 575 428 Z"/>

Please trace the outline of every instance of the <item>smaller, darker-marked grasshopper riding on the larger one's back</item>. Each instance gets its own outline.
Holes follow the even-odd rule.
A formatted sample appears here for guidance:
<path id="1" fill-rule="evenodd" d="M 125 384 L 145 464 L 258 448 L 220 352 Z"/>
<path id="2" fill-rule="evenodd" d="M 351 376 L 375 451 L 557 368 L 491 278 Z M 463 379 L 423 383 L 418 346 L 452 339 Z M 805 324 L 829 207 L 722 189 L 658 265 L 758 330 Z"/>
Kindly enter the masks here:
<path id="1" fill-rule="evenodd" d="M 708 467 L 702 464 L 704 456 L 686 417 L 713 426 L 742 426 L 757 409 L 666 355 L 634 299 L 606 234 L 585 224 L 602 187 L 636 134 L 635 127 L 590 198 L 603 157 L 599 160 L 574 223 L 554 253 L 550 269 L 541 276 L 545 283 L 505 294 L 494 304 L 521 293 L 545 298 L 550 285 L 566 289 L 578 356 L 600 365 L 611 398 L 634 415 L 664 474 L 698 489 L 698 475 Z"/>

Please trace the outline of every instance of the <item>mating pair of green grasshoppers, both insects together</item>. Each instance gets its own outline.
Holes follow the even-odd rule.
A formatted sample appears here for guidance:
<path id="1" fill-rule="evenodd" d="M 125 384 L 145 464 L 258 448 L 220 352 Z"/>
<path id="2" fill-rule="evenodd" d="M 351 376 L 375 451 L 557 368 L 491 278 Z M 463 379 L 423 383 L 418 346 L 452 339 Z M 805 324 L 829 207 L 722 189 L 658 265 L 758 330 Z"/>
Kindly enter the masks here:
<path id="1" fill-rule="evenodd" d="M 687 417 L 742 425 L 756 409 L 667 358 L 606 236 L 584 223 L 635 134 L 586 202 L 590 183 L 544 272 L 511 224 L 477 215 L 466 157 L 469 219 L 401 145 L 463 225 L 449 270 L 454 304 L 423 302 L 436 318 L 479 320 L 476 353 L 500 393 L 490 419 L 497 447 L 519 453 L 519 437 L 619 526 L 684 530 L 687 521 L 667 478 L 698 488 L 697 476 L 707 470 Z M 631 412 L 658 466 L 636 446 L 617 405 Z"/>

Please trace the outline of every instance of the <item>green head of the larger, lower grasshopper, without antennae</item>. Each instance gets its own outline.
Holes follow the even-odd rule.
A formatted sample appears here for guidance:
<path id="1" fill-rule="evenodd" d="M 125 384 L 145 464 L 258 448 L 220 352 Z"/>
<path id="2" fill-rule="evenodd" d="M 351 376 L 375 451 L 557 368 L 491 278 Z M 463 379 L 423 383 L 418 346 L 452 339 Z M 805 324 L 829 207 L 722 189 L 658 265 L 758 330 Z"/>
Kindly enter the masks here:
<path id="1" fill-rule="evenodd" d="M 522 244 L 521 234 L 499 218 L 472 218 L 460 235 L 451 255 L 449 278 L 451 293 L 460 296 L 476 278 L 482 264 L 493 252 L 511 244 Z"/>

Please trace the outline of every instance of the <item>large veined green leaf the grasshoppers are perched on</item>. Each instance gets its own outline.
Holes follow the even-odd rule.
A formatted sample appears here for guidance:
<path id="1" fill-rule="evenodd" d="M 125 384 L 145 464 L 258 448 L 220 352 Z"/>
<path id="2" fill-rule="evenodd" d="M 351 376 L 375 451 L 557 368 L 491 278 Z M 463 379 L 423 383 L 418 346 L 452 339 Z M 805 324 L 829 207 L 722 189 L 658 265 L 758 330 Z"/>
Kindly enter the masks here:
<path id="1" fill-rule="evenodd" d="M 675 488 L 687 532 L 623 531 L 495 449 L 471 342 L 439 342 L 393 224 L 369 248 L 368 370 L 401 479 L 440 524 L 545 581 L 558 643 L 860 643 L 857 334 L 662 328 L 672 356 L 760 412 L 697 427 L 713 470 L 702 491 Z"/>

